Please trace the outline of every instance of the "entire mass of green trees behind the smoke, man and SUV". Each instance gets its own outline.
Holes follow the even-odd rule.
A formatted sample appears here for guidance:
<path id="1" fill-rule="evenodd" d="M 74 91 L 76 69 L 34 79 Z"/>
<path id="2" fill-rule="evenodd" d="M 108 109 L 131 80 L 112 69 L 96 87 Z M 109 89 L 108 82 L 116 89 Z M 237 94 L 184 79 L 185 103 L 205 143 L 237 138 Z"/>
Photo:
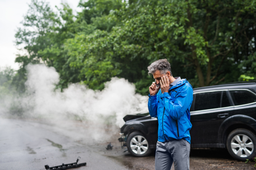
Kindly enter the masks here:
<path id="1" fill-rule="evenodd" d="M 256 75 L 256 0 L 88 0 L 77 15 L 63 4 L 59 14 L 32 0 L 17 31 L 29 55 L 13 78 L 19 91 L 29 62 L 44 62 L 60 74 L 58 87 L 83 82 L 102 90 L 111 77 L 134 82 L 148 94 L 147 66 L 166 58 L 173 75 L 193 87 Z M 239 78 L 240 77 L 240 78 Z"/>

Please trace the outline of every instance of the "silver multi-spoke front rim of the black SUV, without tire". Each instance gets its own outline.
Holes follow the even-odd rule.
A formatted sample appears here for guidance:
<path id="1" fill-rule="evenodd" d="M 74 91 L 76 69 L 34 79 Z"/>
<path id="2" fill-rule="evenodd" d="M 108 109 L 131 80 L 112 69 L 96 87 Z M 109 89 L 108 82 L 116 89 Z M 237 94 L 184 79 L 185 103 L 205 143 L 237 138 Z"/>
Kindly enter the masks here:
<path id="1" fill-rule="evenodd" d="M 136 154 L 143 154 L 148 150 L 148 141 L 143 136 L 137 135 L 131 139 L 131 150 Z"/>

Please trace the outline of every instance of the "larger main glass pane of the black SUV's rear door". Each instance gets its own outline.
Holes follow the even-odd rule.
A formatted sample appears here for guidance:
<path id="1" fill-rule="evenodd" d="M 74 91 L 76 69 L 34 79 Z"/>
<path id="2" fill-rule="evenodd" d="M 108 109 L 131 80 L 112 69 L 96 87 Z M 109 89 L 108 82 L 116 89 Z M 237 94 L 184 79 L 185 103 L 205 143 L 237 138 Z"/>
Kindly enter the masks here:
<path id="1" fill-rule="evenodd" d="M 194 111 L 220 108 L 221 94 L 222 91 L 196 94 Z"/>

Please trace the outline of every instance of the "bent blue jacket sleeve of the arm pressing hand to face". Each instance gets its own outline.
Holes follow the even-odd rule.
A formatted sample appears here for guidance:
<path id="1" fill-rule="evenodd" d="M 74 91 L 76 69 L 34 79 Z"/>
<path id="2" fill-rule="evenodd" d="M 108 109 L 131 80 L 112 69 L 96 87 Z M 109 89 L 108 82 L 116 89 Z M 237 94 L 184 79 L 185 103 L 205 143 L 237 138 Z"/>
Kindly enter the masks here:
<path id="1" fill-rule="evenodd" d="M 193 89 L 189 85 L 183 85 L 178 91 L 174 103 L 171 101 L 171 96 L 168 93 L 161 93 L 160 101 L 161 100 L 166 108 L 166 114 L 177 120 L 189 108 L 193 100 Z"/>

